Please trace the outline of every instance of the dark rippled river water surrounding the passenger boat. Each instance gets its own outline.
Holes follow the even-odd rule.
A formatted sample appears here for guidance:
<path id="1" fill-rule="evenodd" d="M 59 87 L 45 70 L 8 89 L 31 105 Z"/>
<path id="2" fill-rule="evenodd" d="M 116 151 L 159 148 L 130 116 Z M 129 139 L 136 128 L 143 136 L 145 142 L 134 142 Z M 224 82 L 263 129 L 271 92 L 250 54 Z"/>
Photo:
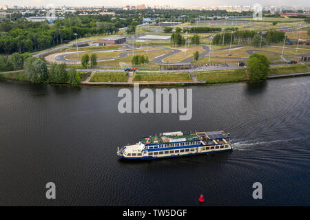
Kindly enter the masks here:
<path id="1" fill-rule="evenodd" d="M 198 206 L 200 194 L 205 206 L 310 205 L 309 76 L 185 88 L 189 121 L 118 113 L 120 88 L 0 81 L 0 205 Z M 116 158 L 142 135 L 195 130 L 230 132 L 234 151 Z"/>

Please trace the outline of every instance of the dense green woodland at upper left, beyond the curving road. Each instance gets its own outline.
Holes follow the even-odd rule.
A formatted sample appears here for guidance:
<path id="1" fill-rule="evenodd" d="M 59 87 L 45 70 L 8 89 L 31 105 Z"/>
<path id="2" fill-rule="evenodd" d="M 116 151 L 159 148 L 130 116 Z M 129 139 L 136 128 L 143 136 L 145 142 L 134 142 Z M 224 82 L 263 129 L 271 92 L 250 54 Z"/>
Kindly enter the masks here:
<path id="1" fill-rule="evenodd" d="M 28 22 L 24 19 L 14 23 L 3 21 L 0 23 L 0 52 L 11 54 L 43 50 L 63 43 L 64 40 L 73 40 L 74 33 L 84 37 L 118 32 L 114 23 L 104 19 L 95 22 L 92 18 L 91 23 L 84 23 L 84 19 L 67 17 L 56 21 L 54 25 L 49 25 L 47 21 Z"/>

